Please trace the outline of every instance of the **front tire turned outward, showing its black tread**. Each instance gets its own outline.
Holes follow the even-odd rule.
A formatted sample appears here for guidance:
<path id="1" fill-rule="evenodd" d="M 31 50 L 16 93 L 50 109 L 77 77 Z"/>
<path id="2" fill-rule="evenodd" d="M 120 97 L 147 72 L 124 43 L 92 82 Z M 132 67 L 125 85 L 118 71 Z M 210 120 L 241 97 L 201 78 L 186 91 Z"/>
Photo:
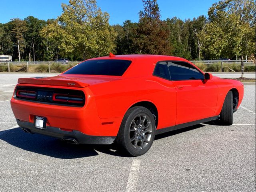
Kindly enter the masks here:
<path id="1" fill-rule="evenodd" d="M 233 124 L 233 93 L 229 91 L 225 97 L 222 110 L 220 112 L 220 120 L 224 125 Z"/>

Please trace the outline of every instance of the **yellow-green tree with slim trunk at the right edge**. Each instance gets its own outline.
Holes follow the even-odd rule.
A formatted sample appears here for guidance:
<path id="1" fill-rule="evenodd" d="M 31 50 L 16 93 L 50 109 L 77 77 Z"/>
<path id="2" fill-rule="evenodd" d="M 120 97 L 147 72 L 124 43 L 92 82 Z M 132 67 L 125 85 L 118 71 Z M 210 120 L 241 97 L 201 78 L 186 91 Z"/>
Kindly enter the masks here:
<path id="1" fill-rule="evenodd" d="M 222 54 L 240 56 L 242 77 L 244 56 L 255 53 L 255 2 L 254 0 L 220 0 L 208 11 L 208 34 L 218 37 Z M 208 36 L 208 41 L 210 41 Z M 220 39 L 224 40 L 220 45 Z M 208 47 L 213 47 L 211 43 Z M 218 49 L 215 46 L 213 49 Z M 220 49 L 221 48 L 221 49 Z"/>

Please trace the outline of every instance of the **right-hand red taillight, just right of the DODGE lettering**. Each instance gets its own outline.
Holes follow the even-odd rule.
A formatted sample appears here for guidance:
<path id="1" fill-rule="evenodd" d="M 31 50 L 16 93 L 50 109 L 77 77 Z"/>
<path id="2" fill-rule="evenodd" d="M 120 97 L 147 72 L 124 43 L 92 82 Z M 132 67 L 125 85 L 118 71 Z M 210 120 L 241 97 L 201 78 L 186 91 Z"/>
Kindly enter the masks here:
<path id="1" fill-rule="evenodd" d="M 56 102 L 68 102 L 68 103 L 84 103 L 84 98 L 78 95 L 69 95 L 69 94 L 59 94 L 54 93 L 52 95 L 52 100 Z"/>

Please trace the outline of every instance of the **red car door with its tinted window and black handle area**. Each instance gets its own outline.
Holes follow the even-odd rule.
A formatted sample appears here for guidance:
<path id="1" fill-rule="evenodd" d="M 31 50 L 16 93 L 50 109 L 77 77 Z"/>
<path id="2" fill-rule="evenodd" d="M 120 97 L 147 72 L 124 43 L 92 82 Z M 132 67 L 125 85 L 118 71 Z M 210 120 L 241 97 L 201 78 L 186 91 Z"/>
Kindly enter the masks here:
<path id="1" fill-rule="evenodd" d="M 214 115 L 218 86 L 204 81 L 204 74 L 187 62 L 167 62 L 172 83 L 177 92 L 176 125 Z"/>

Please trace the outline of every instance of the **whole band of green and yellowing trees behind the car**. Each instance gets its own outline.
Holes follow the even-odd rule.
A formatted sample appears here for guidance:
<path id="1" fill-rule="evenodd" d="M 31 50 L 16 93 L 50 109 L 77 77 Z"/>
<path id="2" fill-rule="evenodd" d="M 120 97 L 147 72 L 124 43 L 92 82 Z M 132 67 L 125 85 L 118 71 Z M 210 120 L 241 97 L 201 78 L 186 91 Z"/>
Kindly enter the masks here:
<path id="1" fill-rule="evenodd" d="M 164 54 L 189 60 L 255 57 L 255 1 L 219 0 L 208 17 L 160 19 L 157 0 L 142 0 L 139 22 L 109 25 L 96 0 L 70 0 L 47 21 L 28 16 L 0 24 L 0 54 L 13 60 L 83 60 L 115 54 Z M 20 51 L 19 51 L 20 49 Z"/>

